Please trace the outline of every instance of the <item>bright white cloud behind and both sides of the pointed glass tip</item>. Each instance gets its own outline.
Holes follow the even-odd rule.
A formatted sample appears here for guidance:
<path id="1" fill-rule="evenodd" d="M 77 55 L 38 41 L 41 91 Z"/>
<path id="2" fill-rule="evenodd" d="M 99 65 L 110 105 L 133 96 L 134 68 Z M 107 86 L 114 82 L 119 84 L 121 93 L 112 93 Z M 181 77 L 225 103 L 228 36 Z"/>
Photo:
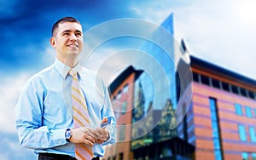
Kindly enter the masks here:
<path id="1" fill-rule="evenodd" d="M 255 8 L 253 0 L 195 0 L 154 1 L 131 9 L 157 24 L 173 12 L 174 23 L 187 40 L 191 54 L 255 79 Z"/>

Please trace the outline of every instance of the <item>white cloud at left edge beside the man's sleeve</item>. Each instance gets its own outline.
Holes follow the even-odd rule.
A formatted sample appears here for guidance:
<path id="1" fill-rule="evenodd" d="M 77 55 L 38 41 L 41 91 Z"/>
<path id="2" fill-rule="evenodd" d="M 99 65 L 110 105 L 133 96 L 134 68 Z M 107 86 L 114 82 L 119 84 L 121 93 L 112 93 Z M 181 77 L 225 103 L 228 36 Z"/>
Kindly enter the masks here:
<path id="1" fill-rule="evenodd" d="M 4 132 L 15 133 L 15 104 L 30 75 L 22 73 L 2 77 L 0 83 L 0 126 Z"/>

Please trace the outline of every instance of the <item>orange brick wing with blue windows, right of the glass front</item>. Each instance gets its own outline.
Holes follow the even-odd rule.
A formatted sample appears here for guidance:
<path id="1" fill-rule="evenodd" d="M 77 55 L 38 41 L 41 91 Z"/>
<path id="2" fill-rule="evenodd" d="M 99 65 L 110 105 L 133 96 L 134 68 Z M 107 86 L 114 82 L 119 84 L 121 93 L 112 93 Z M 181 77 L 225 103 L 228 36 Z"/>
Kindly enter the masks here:
<path id="1" fill-rule="evenodd" d="M 256 81 L 190 58 L 193 98 L 178 133 L 195 145 L 195 159 L 256 159 Z"/>

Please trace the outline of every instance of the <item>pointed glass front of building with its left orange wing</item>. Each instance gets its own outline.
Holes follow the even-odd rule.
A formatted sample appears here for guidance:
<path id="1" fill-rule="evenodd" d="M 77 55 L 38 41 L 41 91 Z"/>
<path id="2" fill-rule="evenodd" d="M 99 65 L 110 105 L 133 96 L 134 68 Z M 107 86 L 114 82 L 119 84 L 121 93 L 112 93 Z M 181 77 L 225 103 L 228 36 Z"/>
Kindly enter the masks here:
<path id="1" fill-rule="evenodd" d="M 139 52 L 126 53 L 130 54 L 131 66 L 109 86 L 118 124 L 118 143 L 107 147 L 106 159 L 192 157 L 195 147 L 178 138 L 176 129 L 176 123 L 188 108 L 183 107 L 184 112 L 176 111 L 181 106 L 177 103 L 177 94 L 189 93 L 187 86 L 192 83 L 192 74 L 186 81 L 184 76 L 189 74 L 177 74 L 183 66 L 186 66 L 185 73 L 190 71 L 189 56 L 185 56 L 184 46 L 177 43 L 173 34 L 173 14 L 170 14 Z M 191 100 L 191 95 L 189 98 Z M 182 96 L 180 100 L 186 102 Z M 171 122 L 174 127 L 170 127 Z M 172 143 L 175 146 L 170 145 Z"/>

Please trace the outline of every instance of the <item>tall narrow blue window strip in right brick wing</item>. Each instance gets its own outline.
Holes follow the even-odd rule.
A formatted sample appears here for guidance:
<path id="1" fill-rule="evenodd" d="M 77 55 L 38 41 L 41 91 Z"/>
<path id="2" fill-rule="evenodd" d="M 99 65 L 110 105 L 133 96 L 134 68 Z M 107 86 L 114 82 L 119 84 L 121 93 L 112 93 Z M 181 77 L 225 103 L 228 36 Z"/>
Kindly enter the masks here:
<path id="1" fill-rule="evenodd" d="M 210 111 L 211 111 L 211 119 L 212 119 L 212 140 L 214 147 L 214 155 L 215 159 L 221 160 L 222 151 L 220 146 L 220 137 L 219 137 L 219 128 L 218 128 L 218 116 L 217 116 L 217 104 L 216 99 L 210 98 Z"/>

